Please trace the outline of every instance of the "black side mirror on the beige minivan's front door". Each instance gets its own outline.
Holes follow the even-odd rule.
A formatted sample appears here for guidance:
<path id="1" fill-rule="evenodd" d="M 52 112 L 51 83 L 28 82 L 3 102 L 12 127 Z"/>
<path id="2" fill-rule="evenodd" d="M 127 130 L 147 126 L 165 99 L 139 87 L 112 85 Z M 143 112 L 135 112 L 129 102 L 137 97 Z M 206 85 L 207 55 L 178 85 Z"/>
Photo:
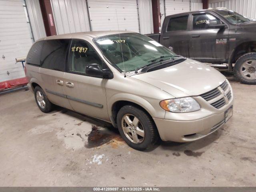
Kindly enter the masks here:
<path id="1" fill-rule="evenodd" d="M 85 73 L 92 76 L 102 76 L 106 79 L 111 79 L 113 74 L 109 69 L 101 69 L 100 66 L 96 63 L 88 64 L 85 68 Z"/>

